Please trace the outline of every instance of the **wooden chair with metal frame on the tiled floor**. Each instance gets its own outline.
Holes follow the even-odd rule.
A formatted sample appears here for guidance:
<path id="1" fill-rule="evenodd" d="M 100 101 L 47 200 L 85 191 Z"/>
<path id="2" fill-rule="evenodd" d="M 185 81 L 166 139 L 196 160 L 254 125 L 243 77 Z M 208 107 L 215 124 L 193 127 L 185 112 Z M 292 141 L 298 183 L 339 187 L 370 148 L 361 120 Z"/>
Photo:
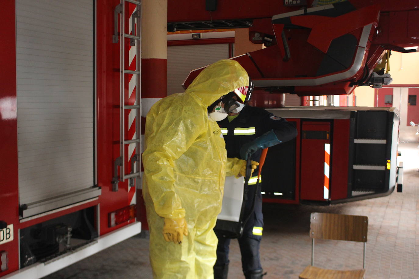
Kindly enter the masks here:
<path id="1" fill-rule="evenodd" d="M 313 212 L 310 215 L 311 265 L 299 275 L 300 279 L 362 279 L 365 274 L 365 244 L 368 217 Z M 362 269 L 333 270 L 314 266 L 314 239 L 334 239 L 364 243 Z"/>

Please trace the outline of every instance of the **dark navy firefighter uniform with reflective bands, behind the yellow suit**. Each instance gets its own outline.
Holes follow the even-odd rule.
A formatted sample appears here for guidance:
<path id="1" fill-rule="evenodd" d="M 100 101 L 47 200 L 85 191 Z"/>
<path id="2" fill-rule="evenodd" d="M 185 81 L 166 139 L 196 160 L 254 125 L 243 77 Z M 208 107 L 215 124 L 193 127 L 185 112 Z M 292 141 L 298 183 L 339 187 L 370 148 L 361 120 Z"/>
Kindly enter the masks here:
<path id="1" fill-rule="evenodd" d="M 251 159 L 259 161 L 261 148 L 273 146 L 278 143 L 290 141 L 297 136 L 297 130 L 284 118 L 277 117 L 262 109 L 247 105 L 251 93 L 241 96 L 246 105 L 241 105 L 228 114 L 228 117 L 218 123 L 224 135 L 228 158 Z M 261 179 L 256 189 L 257 173 L 248 182 L 248 196 L 243 220 L 248 218 L 244 225 L 243 234 L 238 238 L 241 251 L 242 269 L 246 279 L 257 279 L 263 276 L 259 256 L 259 246 L 263 231 Z M 256 192 L 255 192 L 256 191 Z M 256 199 L 254 199 L 256 194 Z M 252 211 L 252 203 L 254 207 Z M 250 216 L 249 216 L 250 215 Z M 214 278 L 225 279 L 228 274 L 228 252 L 230 238 L 216 231 L 218 238 L 217 261 L 214 266 Z"/>

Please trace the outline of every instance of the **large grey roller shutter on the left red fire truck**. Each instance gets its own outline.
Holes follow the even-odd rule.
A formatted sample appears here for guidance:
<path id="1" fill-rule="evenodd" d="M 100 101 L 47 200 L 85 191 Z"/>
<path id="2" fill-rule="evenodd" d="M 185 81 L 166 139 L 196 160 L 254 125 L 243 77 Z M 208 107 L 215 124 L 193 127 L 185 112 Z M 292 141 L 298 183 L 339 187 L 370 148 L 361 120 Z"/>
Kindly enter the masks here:
<path id="1" fill-rule="evenodd" d="M 93 1 L 16 1 L 20 204 L 93 186 Z"/>

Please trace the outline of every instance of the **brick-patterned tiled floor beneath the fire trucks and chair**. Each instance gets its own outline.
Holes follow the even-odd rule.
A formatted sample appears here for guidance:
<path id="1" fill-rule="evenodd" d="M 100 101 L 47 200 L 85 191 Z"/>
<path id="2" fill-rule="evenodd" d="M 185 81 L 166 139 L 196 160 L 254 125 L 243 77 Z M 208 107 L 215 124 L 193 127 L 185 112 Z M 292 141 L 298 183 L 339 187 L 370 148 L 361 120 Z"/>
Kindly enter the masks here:
<path id="1" fill-rule="evenodd" d="M 298 278 L 310 264 L 309 216 L 315 211 L 368 216 L 365 279 L 419 278 L 419 156 L 416 147 L 417 143 L 400 146 L 404 161 L 402 193 L 328 207 L 264 204 L 261 260 L 268 272 L 264 279 Z M 237 241 L 233 241 L 230 248 L 229 278 L 244 278 Z M 362 243 L 316 241 L 315 264 L 336 269 L 361 268 Z M 130 238 L 46 278 L 152 278 L 148 239 Z"/>

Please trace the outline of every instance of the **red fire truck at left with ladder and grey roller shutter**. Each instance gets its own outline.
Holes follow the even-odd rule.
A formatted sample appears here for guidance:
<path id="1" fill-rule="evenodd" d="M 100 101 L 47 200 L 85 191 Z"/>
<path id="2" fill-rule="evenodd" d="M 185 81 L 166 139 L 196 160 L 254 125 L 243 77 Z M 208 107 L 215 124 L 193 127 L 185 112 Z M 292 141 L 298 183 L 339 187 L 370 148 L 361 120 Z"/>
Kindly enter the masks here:
<path id="1" fill-rule="evenodd" d="M 2 2 L 0 277 L 141 232 L 139 4 Z"/>

